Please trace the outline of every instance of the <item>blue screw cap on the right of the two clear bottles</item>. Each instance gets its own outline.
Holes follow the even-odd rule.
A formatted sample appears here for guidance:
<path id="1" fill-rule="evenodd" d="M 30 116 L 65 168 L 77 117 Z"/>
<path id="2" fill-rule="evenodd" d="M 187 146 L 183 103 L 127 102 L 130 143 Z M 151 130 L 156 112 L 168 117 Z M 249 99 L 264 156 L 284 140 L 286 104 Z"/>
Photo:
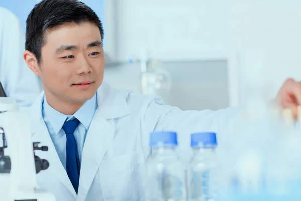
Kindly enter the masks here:
<path id="1" fill-rule="evenodd" d="M 191 134 L 191 147 L 215 147 L 217 146 L 216 133 L 200 132 Z"/>

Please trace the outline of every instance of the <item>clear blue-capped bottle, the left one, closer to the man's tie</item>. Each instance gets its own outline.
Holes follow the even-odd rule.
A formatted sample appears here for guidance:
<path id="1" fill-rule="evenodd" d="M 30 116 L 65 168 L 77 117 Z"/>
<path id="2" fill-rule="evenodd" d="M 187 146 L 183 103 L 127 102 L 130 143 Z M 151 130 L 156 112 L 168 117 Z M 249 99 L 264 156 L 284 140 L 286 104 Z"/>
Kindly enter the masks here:
<path id="1" fill-rule="evenodd" d="M 175 149 L 175 132 L 154 132 L 150 135 L 150 157 L 147 160 L 146 200 L 185 200 L 185 171 Z"/>

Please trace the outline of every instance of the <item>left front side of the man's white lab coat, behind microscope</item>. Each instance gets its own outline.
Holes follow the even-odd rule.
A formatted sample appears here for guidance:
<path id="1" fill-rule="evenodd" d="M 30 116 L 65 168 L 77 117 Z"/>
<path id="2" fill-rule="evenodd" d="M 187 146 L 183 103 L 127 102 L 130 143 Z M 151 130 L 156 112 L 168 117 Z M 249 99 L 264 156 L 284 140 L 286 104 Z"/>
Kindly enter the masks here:
<path id="1" fill-rule="evenodd" d="M 36 155 L 41 159 L 48 160 L 49 168 L 37 174 L 37 178 L 41 183 L 45 182 L 47 186 L 53 185 L 52 183 L 47 183 L 47 177 L 56 177 L 71 192 L 74 198 L 76 198 L 76 192 L 70 182 L 65 168 L 60 161 L 60 158 L 48 133 L 46 124 L 43 120 L 41 112 L 42 98 L 44 98 L 44 93 L 41 99 L 39 98 L 39 101 L 35 103 L 30 110 L 30 113 L 32 113 L 32 140 L 33 142 L 41 142 L 41 146 L 48 146 L 48 151 L 36 151 Z"/>

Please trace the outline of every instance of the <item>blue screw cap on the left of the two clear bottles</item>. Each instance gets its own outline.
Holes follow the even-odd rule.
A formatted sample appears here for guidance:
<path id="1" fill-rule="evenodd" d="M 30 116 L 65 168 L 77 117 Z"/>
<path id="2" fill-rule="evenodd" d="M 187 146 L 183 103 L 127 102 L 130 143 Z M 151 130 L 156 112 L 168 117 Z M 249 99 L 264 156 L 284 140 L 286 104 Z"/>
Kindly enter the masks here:
<path id="1" fill-rule="evenodd" d="M 156 145 L 178 145 L 176 132 L 153 132 L 150 134 L 149 145 L 151 147 Z"/>

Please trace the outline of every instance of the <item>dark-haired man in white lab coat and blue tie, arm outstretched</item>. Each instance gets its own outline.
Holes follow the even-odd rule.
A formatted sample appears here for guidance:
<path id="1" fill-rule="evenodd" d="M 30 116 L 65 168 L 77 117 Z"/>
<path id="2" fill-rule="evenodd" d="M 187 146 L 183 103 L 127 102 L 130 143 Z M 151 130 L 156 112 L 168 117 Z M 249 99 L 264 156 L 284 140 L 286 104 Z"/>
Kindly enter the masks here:
<path id="1" fill-rule="evenodd" d="M 237 108 L 181 111 L 111 88 L 102 39 L 101 21 L 77 0 L 44 0 L 27 19 L 24 59 L 44 86 L 30 109 L 33 140 L 49 147 L 40 156 L 50 167 L 37 178 L 57 200 L 143 200 L 150 132 L 177 131 L 187 145 L 191 132 L 213 130 L 223 144 L 237 124 Z M 300 84 L 288 80 L 277 100 L 299 104 Z"/>

